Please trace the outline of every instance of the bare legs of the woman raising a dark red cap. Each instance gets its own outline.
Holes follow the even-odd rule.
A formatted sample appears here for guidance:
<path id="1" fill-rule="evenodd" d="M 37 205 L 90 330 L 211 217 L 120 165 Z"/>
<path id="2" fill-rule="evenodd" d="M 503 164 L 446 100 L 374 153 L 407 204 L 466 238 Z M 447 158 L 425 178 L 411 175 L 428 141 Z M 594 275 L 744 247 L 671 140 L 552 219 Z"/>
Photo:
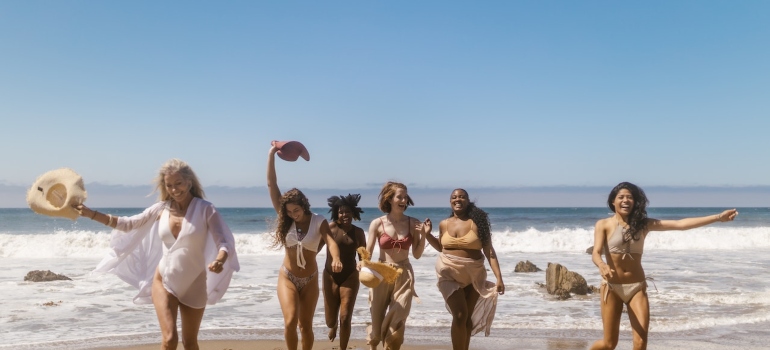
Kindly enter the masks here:
<path id="1" fill-rule="evenodd" d="M 283 312 L 283 335 L 289 350 L 297 350 L 299 343 L 297 326 L 299 326 L 299 331 L 302 334 L 302 349 L 311 350 L 313 348 L 313 341 L 315 340 L 313 314 L 319 294 L 317 275 L 301 291 L 297 291 L 297 287 L 286 277 L 283 271 L 278 273 L 278 302 L 280 302 Z"/>

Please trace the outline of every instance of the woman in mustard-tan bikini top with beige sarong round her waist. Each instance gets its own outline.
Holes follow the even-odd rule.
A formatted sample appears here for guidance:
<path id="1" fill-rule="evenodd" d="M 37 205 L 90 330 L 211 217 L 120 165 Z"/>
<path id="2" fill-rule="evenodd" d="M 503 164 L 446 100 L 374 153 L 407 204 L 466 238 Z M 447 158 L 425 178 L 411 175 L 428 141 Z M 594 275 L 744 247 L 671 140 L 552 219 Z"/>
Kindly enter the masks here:
<path id="1" fill-rule="evenodd" d="M 449 203 L 452 213 L 439 223 L 438 238 L 428 234 L 426 240 L 441 252 L 436 260 L 437 285 L 452 314 L 452 349 L 468 350 L 472 335 L 481 331 L 489 335 L 497 295 L 505 293 L 505 283 L 487 213 L 462 188 L 452 191 Z M 487 281 L 484 257 L 497 283 Z"/>

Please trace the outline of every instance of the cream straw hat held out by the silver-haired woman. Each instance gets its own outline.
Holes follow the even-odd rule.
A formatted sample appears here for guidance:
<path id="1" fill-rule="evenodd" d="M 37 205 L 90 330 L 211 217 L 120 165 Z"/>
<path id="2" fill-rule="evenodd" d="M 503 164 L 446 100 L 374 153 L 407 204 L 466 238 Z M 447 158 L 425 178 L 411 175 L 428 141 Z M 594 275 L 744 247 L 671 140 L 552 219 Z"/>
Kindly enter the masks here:
<path id="1" fill-rule="evenodd" d="M 76 220 L 80 212 L 73 204 L 83 204 L 88 197 L 83 178 L 72 169 L 51 170 L 35 180 L 27 191 L 27 204 L 32 211 Z"/>

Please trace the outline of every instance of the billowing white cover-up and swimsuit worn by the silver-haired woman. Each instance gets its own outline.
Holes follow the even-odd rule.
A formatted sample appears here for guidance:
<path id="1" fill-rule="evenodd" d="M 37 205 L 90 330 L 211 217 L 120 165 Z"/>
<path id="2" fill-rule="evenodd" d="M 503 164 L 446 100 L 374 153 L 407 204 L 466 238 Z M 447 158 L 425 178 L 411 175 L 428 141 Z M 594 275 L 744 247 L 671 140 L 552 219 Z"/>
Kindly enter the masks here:
<path id="1" fill-rule="evenodd" d="M 139 289 L 136 304 L 152 303 L 156 269 L 164 288 L 182 304 L 193 308 L 214 305 L 227 291 L 233 273 L 240 270 L 235 238 L 213 204 L 193 198 L 176 242 L 166 248 L 159 235 L 159 217 L 168 202 L 158 202 L 141 214 L 119 217 L 112 231 L 112 250 L 94 272 L 112 273 Z M 222 272 L 208 271 L 220 250 L 227 252 Z M 206 288 L 190 288 L 205 274 Z M 205 298 L 201 297 L 205 293 Z"/>

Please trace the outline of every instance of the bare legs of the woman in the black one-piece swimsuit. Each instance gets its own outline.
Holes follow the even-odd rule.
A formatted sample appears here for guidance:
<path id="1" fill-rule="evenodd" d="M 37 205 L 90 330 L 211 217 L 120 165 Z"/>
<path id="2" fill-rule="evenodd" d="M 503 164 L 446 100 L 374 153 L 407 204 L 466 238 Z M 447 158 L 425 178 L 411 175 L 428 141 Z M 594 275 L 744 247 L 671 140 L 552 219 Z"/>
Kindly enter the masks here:
<path id="1" fill-rule="evenodd" d="M 340 349 L 347 349 L 350 341 L 350 328 L 353 307 L 356 304 L 359 282 L 358 272 L 352 273 L 345 282 L 337 285 L 331 275 L 324 270 L 324 307 L 326 310 L 326 326 L 329 327 L 329 340 L 337 335 L 337 325 L 340 329 Z M 337 323 L 339 316 L 339 323 Z"/>

